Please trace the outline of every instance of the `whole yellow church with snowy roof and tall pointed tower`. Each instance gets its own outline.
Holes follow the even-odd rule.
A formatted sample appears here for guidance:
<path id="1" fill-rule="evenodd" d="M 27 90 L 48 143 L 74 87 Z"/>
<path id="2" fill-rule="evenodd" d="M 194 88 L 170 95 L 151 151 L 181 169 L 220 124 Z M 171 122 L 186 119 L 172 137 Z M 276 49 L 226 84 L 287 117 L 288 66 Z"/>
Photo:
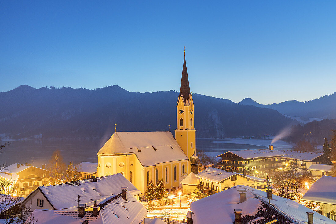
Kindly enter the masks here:
<path id="1" fill-rule="evenodd" d="M 170 131 L 115 132 L 97 153 L 97 176 L 121 173 L 143 194 L 150 179 L 154 185 L 163 179 L 168 191 L 175 190 L 192 169 L 197 169 L 189 160 L 196 149 L 194 124 L 184 51 L 175 139 Z"/>

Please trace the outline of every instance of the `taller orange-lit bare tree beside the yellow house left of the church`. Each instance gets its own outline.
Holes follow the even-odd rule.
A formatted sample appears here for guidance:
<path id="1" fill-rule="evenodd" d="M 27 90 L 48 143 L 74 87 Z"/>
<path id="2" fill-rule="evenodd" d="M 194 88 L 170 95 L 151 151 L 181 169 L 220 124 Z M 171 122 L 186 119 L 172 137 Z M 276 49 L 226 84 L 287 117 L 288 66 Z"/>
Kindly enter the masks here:
<path id="1" fill-rule="evenodd" d="M 63 158 L 59 150 L 54 151 L 48 166 L 48 184 L 60 184 L 63 183 L 65 175 L 66 165 L 63 162 Z"/>

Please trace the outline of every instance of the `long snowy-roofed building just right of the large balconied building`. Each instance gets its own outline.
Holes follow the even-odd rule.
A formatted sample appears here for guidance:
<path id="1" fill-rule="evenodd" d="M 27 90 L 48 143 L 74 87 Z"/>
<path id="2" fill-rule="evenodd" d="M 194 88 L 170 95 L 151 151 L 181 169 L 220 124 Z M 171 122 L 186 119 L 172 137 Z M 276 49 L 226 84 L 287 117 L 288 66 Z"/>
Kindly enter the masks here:
<path id="1" fill-rule="evenodd" d="M 294 151 L 294 150 L 285 150 L 282 152 L 286 153 L 283 156 L 283 159 L 287 164 L 293 164 L 294 168 L 300 168 L 307 170 L 311 164 L 321 164 L 323 161 L 324 153 L 320 152 L 304 152 L 304 151 Z"/>

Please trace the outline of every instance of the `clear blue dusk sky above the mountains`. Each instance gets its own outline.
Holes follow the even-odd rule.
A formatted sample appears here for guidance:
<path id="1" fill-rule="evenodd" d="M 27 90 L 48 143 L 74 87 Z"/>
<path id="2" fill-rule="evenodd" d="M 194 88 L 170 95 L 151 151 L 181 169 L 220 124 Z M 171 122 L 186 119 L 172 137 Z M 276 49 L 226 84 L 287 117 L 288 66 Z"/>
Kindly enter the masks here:
<path id="1" fill-rule="evenodd" d="M 336 91 L 336 1 L 1 1 L 0 92 L 178 90 L 260 103 Z"/>

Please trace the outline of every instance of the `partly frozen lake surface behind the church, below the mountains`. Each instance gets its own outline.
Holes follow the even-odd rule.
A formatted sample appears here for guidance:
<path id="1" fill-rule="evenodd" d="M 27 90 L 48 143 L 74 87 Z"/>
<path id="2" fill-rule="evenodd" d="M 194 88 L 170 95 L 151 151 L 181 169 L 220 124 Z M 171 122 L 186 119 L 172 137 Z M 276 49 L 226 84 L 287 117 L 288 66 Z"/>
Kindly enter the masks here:
<path id="1" fill-rule="evenodd" d="M 3 141 L 4 142 L 4 141 Z M 42 164 L 48 164 L 53 151 L 61 151 L 65 163 L 73 161 L 97 162 L 97 152 L 104 145 L 106 140 L 102 139 L 74 139 L 74 140 L 13 140 L 11 144 L 3 148 L 0 154 L 0 163 L 7 162 L 7 165 L 13 163 L 30 163 L 41 167 Z M 197 139 L 196 148 L 203 149 L 210 156 L 217 156 L 223 152 L 267 148 L 271 140 L 267 139 Z M 284 141 L 273 143 L 275 149 L 292 148 L 291 144 Z"/>

